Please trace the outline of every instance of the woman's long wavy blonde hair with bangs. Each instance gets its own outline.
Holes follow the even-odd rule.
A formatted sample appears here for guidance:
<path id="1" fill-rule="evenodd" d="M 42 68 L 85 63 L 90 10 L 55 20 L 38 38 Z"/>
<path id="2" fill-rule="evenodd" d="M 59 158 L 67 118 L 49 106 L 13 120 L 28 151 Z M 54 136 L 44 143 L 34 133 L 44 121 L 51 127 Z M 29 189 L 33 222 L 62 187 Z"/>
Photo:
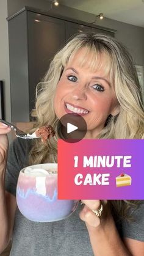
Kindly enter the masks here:
<path id="1" fill-rule="evenodd" d="M 115 38 L 103 34 L 77 34 L 54 56 L 43 81 L 36 90 L 35 117 L 33 132 L 36 128 L 49 123 L 56 131 L 56 136 L 43 144 L 34 140 L 29 153 L 29 164 L 57 163 L 57 124 L 54 112 L 54 95 L 57 83 L 65 66 L 80 49 L 85 54 L 79 61 L 83 67 L 88 63 L 91 70 L 104 67 L 110 75 L 117 95 L 120 112 L 116 116 L 107 117 L 106 125 L 96 139 L 143 139 L 144 111 L 142 92 L 132 57 Z M 106 57 L 106 63 L 100 61 L 100 54 Z M 125 216 L 136 200 L 110 200 L 113 211 Z"/>

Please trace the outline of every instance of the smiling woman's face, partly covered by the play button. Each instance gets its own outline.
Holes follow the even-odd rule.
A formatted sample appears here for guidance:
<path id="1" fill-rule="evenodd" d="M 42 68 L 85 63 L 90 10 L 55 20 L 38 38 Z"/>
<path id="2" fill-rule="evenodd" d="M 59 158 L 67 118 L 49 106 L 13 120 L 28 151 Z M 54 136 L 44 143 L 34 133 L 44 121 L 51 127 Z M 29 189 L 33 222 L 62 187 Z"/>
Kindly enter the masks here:
<path id="1" fill-rule="evenodd" d="M 81 54 L 84 49 L 79 50 L 63 70 L 54 97 L 54 111 L 58 119 L 72 112 L 82 115 L 88 137 L 94 138 L 103 129 L 107 117 L 118 114 L 118 101 L 109 75 L 104 75 L 103 68 L 92 72 L 88 65 L 80 67 L 77 60 Z M 101 61 L 106 61 L 103 54 Z"/>

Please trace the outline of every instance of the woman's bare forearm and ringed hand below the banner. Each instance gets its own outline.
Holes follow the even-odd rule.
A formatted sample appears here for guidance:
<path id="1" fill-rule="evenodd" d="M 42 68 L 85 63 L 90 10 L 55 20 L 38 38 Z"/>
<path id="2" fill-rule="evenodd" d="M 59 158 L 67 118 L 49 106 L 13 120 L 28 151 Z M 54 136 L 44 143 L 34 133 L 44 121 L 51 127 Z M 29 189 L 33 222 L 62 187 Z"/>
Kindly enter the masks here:
<path id="1" fill-rule="evenodd" d="M 79 213 L 79 217 L 82 219 L 82 221 L 85 221 L 94 255 L 137 255 L 137 249 L 134 249 L 133 242 L 131 246 L 131 251 L 134 250 L 134 254 L 131 254 L 131 252 L 128 251 L 128 248 L 121 240 L 112 214 L 110 213 L 109 201 L 81 200 L 81 202 L 85 205 L 81 213 Z M 101 217 L 99 218 L 98 216 L 96 216 L 93 210 L 99 210 L 99 208 L 101 207 L 101 203 L 103 204 L 103 212 Z M 135 240 L 133 241 L 135 243 Z M 140 255 L 142 255 L 142 245 L 140 244 L 139 246 L 139 251 L 141 250 Z"/>

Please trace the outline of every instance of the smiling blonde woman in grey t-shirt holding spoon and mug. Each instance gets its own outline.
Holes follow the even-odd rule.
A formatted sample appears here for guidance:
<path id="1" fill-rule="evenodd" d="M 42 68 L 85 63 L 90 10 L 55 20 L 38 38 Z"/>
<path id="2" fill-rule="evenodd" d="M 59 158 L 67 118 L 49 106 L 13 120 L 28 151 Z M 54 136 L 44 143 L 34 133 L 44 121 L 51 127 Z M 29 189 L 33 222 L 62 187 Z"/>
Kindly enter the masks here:
<path id="1" fill-rule="evenodd" d="M 0 252 L 12 236 L 10 255 L 133 255 L 144 254 L 143 201 L 82 200 L 68 219 L 28 221 L 16 208 L 20 170 L 29 164 L 57 162 L 57 123 L 75 112 L 87 122 L 85 139 L 143 139 L 143 104 L 134 64 L 126 49 L 106 35 L 79 34 L 59 51 L 37 87 L 38 126 L 49 123 L 56 136 L 16 139 L 7 159 L 10 128 L 0 124 Z M 4 194 L 5 180 L 5 194 Z M 99 208 L 103 205 L 101 218 Z M 133 219 L 132 221 L 130 219 Z M 15 219 L 15 223 L 14 223 Z"/>

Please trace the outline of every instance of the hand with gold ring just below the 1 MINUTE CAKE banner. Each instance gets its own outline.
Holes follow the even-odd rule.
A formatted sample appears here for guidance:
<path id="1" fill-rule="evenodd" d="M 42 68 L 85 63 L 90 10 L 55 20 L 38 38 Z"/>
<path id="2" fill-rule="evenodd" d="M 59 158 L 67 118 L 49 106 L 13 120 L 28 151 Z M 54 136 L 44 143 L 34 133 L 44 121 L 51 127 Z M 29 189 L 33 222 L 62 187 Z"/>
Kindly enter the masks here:
<path id="1" fill-rule="evenodd" d="M 103 219 L 106 219 L 109 215 L 107 200 L 81 200 L 81 202 L 82 204 L 84 203 L 84 208 L 79 213 L 79 217 L 82 221 L 85 221 L 87 227 L 98 227 L 103 222 Z M 99 218 L 93 210 L 99 210 L 101 203 L 103 204 L 103 212 L 101 218 Z"/>

